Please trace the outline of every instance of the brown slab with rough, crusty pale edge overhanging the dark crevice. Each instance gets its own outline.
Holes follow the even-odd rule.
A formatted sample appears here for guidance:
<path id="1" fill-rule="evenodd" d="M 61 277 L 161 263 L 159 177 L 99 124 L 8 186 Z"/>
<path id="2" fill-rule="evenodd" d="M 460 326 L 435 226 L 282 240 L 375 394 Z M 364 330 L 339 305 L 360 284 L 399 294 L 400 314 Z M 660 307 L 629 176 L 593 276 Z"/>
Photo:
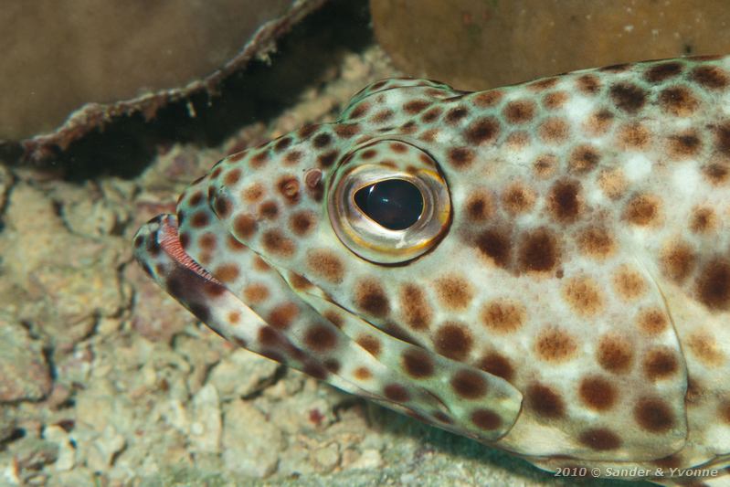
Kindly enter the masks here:
<path id="1" fill-rule="evenodd" d="M 0 17 L 0 44 L 10 47 L 0 79 L 0 113 L 8 114 L 0 116 L 0 140 L 52 132 L 25 144 L 41 158 L 114 116 L 152 118 L 168 101 L 214 90 L 322 4 L 163 0 L 153 7 L 89 8 L 45 0 L 32 8 L 8 6 Z"/>

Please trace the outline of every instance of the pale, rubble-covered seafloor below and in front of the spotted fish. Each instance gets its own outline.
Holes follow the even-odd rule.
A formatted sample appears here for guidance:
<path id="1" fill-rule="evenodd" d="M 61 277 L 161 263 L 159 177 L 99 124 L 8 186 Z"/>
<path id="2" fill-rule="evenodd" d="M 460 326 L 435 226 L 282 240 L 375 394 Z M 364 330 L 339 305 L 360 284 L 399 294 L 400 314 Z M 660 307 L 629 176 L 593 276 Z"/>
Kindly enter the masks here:
<path id="1" fill-rule="evenodd" d="M 397 74 L 379 48 L 345 50 L 284 110 L 215 146 L 155 145 L 133 178 L 0 166 L 0 484 L 583 482 L 237 349 L 132 260 L 136 229 L 225 154 L 333 120 L 352 93 Z"/>

